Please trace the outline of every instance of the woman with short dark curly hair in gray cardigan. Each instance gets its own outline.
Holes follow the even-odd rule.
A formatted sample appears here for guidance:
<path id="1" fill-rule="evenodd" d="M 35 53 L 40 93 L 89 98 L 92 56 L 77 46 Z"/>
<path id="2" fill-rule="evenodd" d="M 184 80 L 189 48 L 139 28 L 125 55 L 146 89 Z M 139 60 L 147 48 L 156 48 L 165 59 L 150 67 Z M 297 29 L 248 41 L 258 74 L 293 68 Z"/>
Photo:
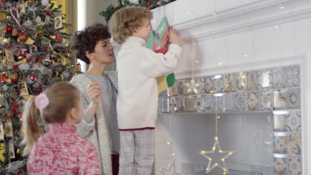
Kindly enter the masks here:
<path id="1" fill-rule="evenodd" d="M 95 23 L 75 33 L 72 49 L 76 57 L 89 65 L 84 74 L 70 83 L 81 94 L 85 113 L 77 124 L 77 134 L 97 146 L 102 175 L 118 175 L 120 136 L 117 123 L 117 74 L 105 71 L 115 59 L 108 28 Z"/>

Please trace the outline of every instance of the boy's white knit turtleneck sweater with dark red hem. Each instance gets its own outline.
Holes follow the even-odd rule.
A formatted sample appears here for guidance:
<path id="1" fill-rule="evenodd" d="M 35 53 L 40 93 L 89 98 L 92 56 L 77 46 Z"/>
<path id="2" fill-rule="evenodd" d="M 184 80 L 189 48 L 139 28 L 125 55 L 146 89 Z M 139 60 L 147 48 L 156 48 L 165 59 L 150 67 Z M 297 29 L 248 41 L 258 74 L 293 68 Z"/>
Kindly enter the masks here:
<path id="1" fill-rule="evenodd" d="M 145 44 L 143 39 L 130 36 L 117 55 L 119 129 L 155 127 L 156 77 L 172 72 L 181 54 L 177 44 L 170 44 L 165 55 L 147 49 Z"/>

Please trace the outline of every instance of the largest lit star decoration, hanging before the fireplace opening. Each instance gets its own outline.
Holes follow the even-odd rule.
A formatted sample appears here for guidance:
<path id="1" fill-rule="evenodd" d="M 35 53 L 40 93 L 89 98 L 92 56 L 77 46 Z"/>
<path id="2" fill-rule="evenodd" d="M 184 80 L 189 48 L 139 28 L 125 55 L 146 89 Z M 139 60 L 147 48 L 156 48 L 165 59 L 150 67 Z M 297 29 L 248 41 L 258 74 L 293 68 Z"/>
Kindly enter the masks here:
<path id="1" fill-rule="evenodd" d="M 217 151 L 216 148 L 218 149 Z M 224 171 L 223 174 L 226 175 L 228 173 L 228 168 L 225 165 L 225 159 L 233 153 L 234 151 L 223 151 L 220 148 L 218 137 L 216 136 L 215 143 L 211 151 L 200 151 L 200 154 L 208 159 L 206 174 L 212 171 L 215 167 L 219 167 Z"/>

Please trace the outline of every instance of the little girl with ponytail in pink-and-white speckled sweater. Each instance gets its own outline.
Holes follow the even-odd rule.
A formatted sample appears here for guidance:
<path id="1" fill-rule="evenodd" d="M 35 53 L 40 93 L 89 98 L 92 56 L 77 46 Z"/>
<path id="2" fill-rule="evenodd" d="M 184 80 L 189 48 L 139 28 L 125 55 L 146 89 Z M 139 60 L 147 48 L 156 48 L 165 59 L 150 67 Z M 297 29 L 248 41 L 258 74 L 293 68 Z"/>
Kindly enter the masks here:
<path id="1" fill-rule="evenodd" d="M 49 123 L 43 134 L 37 112 Z M 77 88 L 60 82 L 29 99 L 23 112 L 25 149 L 29 175 L 99 175 L 95 146 L 79 137 L 75 124 L 81 122 L 83 108 Z"/>

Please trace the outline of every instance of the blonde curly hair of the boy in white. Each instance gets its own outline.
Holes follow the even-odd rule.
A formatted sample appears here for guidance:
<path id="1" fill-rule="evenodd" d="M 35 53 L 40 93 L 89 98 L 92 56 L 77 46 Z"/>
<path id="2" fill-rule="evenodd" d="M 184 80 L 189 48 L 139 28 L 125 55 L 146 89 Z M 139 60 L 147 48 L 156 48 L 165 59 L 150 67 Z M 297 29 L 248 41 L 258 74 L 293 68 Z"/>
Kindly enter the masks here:
<path id="1" fill-rule="evenodd" d="M 143 20 L 151 20 L 152 12 L 145 7 L 129 6 L 117 10 L 109 21 L 109 32 L 113 40 L 122 44 L 135 29 L 143 25 Z"/>

